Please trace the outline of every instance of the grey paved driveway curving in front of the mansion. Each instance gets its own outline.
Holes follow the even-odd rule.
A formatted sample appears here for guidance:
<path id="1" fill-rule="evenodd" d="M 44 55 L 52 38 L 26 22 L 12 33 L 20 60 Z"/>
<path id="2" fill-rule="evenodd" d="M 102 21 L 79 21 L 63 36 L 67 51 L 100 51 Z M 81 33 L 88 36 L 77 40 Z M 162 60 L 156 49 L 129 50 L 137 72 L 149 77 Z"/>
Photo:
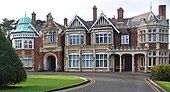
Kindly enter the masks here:
<path id="1" fill-rule="evenodd" d="M 74 88 L 67 92 L 154 92 L 145 83 L 148 74 L 143 73 L 58 73 L 29 72 L 28 74 L 69 74 L 94 79 L 93 85 Z"/>

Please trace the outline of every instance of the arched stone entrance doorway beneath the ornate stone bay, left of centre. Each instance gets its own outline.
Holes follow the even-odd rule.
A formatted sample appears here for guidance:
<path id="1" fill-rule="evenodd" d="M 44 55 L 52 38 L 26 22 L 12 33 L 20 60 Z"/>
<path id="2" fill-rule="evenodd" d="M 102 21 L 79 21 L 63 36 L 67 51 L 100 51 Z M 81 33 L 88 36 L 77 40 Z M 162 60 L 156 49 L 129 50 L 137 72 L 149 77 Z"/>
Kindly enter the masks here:
<path id="1" fill-rule="evenodd" d="M 44 56 L 44 70 L 56 71 L 57 70 L 57 57 L 53 53 L 48 53 Z"/>

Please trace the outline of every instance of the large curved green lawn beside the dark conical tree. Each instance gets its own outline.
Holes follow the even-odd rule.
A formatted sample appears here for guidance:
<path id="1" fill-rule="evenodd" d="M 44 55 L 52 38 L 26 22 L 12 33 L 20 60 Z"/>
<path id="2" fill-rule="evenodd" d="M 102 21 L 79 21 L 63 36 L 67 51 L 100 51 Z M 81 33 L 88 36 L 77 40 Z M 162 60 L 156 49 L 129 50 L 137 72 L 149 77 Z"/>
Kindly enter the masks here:
<path id="1" fill-rule="evenodd" d="M 69 75 L 29 75 L 26 82 L 10 88 L 1 88 L 0 92 L 43 92 L 82 83 L 83 81 L 79 77 Z"/>

